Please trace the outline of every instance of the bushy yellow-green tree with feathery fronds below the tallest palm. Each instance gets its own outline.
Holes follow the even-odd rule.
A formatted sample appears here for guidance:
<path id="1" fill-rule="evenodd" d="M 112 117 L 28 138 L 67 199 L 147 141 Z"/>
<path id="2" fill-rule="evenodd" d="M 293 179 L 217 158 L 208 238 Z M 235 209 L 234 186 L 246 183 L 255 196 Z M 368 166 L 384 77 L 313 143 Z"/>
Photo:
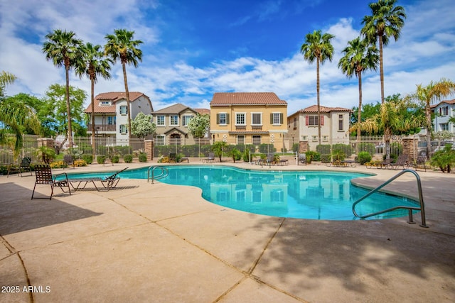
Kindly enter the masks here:
<path id="1" fill-rule="evenodd" d="M 372 116 L 365 121 L 351 126 L 349 131 L 355 131 L 359 127 L 362 131 L 369 133 L 378 132 L 381 129 L 384 131 L 385 141 L 385 158 L 390 158 L 390 140 L 395 133 L 405 133 L 413 128 L 422 126 L 422 119 L 419 116 L 402 115 L 403 111 L 407 111 L 408 107 L 412 106 L 407 99 L 401 99 L 400 94 L 395 94 L 387 97 L 385 102 L 381 104 L 380 113 Z"/>

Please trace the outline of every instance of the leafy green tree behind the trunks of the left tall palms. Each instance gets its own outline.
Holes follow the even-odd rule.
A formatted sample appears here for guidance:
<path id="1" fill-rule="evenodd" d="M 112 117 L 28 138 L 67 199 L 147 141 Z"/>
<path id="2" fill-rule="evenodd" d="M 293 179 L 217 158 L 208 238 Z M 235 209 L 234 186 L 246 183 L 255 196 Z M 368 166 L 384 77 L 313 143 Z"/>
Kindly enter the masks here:
<path id="1" fill-rule="evenodd" d="M 38 109 L 37 114 L 43 124 L 55 134 L 68 133 L 68 122 L 74 121 L 74 131 L 77 135 L 85 133 L 85 128 L 82 127 L 84 122 L 84 101 L 87 94 L 82 89 L 69 87 L 70 92 L 70 119 L 66 112 L 65 101 L 66 88 L 60 84 L 52 84 L 45 92 L 43 104 Z M 70 145 L 71 147 L 72 145 Z"/>

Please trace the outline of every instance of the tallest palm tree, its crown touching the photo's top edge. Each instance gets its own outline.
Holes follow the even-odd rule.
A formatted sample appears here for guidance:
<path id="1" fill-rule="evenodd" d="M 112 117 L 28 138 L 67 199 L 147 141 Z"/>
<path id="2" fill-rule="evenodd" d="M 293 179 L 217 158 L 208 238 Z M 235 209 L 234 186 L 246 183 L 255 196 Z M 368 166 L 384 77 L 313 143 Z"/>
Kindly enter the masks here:
<path id="1" fill-rule="evenodd" d="M 381 82 L 381 104 L 384 103 L 384 67 L 382 48 L 389 43 L 389 38 L 396 40 L 400 38 L 400 31 L 405 25 L 405 9 L 402 6 L 395 6 L 397 0 L 378 0 L 368 4 L 372 16 L 363 17 L 364 24 L 360 33 L 365 38 L 375 43 L 379 38 L 379 67 Z"/>

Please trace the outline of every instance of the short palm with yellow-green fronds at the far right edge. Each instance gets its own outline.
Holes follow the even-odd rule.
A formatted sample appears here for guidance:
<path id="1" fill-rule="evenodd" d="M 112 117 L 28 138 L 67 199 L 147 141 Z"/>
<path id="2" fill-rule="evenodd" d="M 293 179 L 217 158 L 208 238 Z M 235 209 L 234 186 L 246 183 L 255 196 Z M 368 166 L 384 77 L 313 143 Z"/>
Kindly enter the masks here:
<path id="1" fill-rule="evenodd" d="M 407 98 L 417 100 L 423 103 L 425 107 L 425 128 L 427 128 L 427 155 L 430 152 L 432 141 L 432 107 L 431 104 L 437 103 L 441 98 L 448 97 L 455 93 L 455 82 L 442 78 L 439 82 L 429 82 L 424 87 L 422 84 L 417 85 L 417 91 L 410 94 Z"/>

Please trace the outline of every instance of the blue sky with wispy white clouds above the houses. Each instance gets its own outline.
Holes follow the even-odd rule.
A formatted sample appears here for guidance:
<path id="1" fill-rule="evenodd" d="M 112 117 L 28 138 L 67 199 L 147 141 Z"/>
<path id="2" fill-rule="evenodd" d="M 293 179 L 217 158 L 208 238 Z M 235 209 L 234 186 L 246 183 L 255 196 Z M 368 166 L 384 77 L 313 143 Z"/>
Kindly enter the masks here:
<path id="1" fill-rule="evenodd" d="M 446 77 L 455 81 L 453 0 L 399 0 L 407 13 L 400 40 L 384 50 L 385 95 L 412 93 L 416 84 Z M 358 105 L 358 81 L 346 78 L 338 60 L 359 35 L 370 1 L 338 0 L 0 0 L 0 70 L 18 81 L 7 94 L 38 97 L 51 84 L 65 84 L 63 68 L 41 52 L 56 28 L 105 44 L 115 28 L 134 31 L 141 45 L 139 67 L 127 67 L 129 89 L 148 95 L 154 109 L 176 103 L 209 108 L 214 92 L 275 92 L 288 114 L 316 104 L 316 65 L 299 53 L 306 33 L 336 36 L 333 62 L 321 66 L 321 105 Z M 70 84 L 90 94 L 88 79 Z M 95 94 L 123 91 L 121 65 L 100 79 Z M 87 98 L 86 104 L 89 102 Z M 363 75 L 363 103 L 380 101 L 379 72 Z"/>

